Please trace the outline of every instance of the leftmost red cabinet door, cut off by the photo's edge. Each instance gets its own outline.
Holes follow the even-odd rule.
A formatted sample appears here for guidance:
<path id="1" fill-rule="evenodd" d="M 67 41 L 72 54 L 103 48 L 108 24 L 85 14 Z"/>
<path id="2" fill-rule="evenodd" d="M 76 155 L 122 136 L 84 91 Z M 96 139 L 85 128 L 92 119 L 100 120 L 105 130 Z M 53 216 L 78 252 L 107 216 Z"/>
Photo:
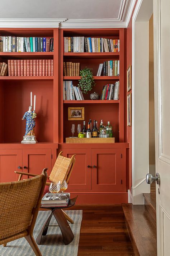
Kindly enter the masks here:
<path id="1" fill-rule="evenodd" d="M 0 182 L 17 181 L 14 171 L 22 171 L 22 149 L 0 149 Z"/>

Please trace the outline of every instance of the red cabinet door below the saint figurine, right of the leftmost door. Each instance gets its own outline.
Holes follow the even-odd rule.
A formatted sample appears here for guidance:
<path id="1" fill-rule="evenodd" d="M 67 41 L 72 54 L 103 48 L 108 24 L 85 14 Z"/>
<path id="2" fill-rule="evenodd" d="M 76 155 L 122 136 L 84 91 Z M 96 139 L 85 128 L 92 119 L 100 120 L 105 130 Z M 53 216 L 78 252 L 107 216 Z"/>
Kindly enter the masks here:
<path id="1" fill-rule="evenodd" d="M 23 149 L 23 172 L 39 175 L 44 168 L 51 172 L 51 149 Z"/>

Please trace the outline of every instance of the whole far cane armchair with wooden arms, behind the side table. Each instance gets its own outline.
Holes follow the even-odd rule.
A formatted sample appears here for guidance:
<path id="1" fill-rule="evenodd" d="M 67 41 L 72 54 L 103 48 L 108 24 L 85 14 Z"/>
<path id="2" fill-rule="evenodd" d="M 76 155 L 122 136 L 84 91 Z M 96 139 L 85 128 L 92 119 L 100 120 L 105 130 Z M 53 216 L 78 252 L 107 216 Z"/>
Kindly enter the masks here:
<path id="1" fill-rule="evenodd" d="M 62 151 L 58 154 L 55 165 L 53 166 L 51 174 L 49 175 L 49 178 L 48 178 L 49 182 L 46 182 L 46 186 L 49 186 L 51 182 L 57 183 L 59 180 L 61 181 L 61 183 L 63 180 L 66 180 L 67 183 L 69 182 L 70 175 L 75 164 L 75 156 L 76 155 L 74 154 L 71 158 L 64 157 L 62 156 Z M 36 174 L 30 174 L 28 172 L 15 171 L 15 173 L 19 174 L 18 180 L 21 180 L 23 175 L 33 176 L 33 177 L 37 176 Z M 48 187 L 46 187 L 44 192 L 45 193 L 48 192 Z M 74 221 L 70 218 L 70 216 L 65 213 L 65 211 L 63 211 L 63 214 L 65 215 L 66 219 L 70 223 L 74 223 Z"/>

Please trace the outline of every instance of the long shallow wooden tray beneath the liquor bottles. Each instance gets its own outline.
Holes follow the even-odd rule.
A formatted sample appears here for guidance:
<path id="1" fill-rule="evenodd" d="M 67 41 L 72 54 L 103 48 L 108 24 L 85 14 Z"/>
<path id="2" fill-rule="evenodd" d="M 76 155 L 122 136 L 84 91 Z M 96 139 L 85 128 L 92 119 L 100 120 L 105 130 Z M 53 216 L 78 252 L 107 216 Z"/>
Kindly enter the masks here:
<path id="1" fill-rule="evenodd" d="M 66 138 L 66 143 L 114 143 L 114 138 Z"/>

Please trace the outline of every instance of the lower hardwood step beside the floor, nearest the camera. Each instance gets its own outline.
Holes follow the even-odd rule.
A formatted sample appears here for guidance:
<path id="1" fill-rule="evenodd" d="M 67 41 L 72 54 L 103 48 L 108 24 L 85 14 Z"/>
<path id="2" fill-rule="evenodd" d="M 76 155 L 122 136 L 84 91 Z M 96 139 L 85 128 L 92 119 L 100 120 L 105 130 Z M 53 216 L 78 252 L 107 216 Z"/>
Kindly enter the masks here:
<path id="1" fill-rule="evenodd" d="M 156 256 L 156 223 L 145 205 L 122 204 L 126 226 L 136 256 Z"/>

